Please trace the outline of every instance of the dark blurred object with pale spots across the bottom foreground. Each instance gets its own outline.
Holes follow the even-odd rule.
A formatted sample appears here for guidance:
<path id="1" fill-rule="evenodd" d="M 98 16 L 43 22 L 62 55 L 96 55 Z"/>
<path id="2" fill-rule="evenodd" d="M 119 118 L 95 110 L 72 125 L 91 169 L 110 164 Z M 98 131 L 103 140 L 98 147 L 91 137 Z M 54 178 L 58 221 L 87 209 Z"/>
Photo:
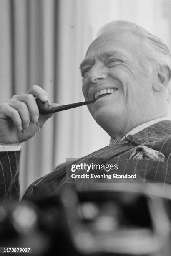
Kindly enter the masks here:
<path id="1" fill-rule="evenodd" d="M 28 247 L 32 255 L 170 256 L 170 217 L 170 186 L 78 184 L 0 207 L 0 247 Z"/>

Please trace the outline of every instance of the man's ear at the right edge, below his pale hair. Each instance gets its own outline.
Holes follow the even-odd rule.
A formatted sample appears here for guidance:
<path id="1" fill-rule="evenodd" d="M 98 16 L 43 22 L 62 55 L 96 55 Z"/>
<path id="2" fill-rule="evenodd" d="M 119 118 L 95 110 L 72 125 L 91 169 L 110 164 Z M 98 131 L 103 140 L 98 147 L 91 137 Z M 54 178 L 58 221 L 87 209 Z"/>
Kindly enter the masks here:
<path id="1" fill-rule="evenodd" d="M 157 77 L 153 83 L 153 90 L 161 92 L 166 89 L 168 81 L 171 79 L 171 69 L 168 66 L 160 66 Z"/>

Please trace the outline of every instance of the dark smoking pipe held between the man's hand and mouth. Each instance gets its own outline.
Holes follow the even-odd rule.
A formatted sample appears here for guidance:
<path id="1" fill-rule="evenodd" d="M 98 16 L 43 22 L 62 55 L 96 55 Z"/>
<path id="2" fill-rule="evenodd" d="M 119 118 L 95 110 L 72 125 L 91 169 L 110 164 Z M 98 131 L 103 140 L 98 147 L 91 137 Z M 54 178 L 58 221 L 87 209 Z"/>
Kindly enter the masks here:
<path id="1" fill-rule="evenodd" d="M 39 112 L 41 115 L 47 115 L 50 113 L 55 113 L 55 112 L 67 110 L 70 108 L 76 108 L 79 106 L 88 105 L 90 103 L 94 103 L 95 101 L 96 100 L 89 100 L 89 101 L 72 103 L 72 104 L 68 104 L 68 105 L 61 105 L 61 106 L 57 106 L 57 107 L 50 107 L 50 104 L 48 101 L 42 102 L 41 100 L 39 100 L 39 98 L 36 98 L 36 103 L 38 105 L 38 109 L 39 109 Z"/>

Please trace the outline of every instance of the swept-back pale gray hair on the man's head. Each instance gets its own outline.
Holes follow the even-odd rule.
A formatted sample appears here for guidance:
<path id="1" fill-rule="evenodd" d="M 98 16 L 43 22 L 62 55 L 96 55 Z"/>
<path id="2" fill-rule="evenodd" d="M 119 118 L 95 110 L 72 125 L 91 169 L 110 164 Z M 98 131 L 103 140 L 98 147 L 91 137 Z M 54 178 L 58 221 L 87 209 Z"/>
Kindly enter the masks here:
<path id="1" fill-rule="evenodd" d="M 160 38 L 154 36 L 146 29 L 136 25 L 135 23 L 126 20 L 112 21 L 101 27 L 98 31 L 97 36 L 100 36 L 103 33 L 112 32 L 113 29 L 116 29 L 118 27 L 127 28 L 142 38 L 142 44 L 144 46 L 143 49 L 145 50 L 144 53 L 151 63 L 151 67 L 149 64 L 146 67 L 146 71 L 148 72 L 148 74 L 150 72 L 150 69 L 153 67 L 168 66 L 171 70 L 171 53 L 166 44 L 164 44 L 164 42 Z M 169 81 L 167 88 L 168 90 L 170 90 L 171 93 L 171 88 L 169 87 L 171 87 L 171 81 Z"/>

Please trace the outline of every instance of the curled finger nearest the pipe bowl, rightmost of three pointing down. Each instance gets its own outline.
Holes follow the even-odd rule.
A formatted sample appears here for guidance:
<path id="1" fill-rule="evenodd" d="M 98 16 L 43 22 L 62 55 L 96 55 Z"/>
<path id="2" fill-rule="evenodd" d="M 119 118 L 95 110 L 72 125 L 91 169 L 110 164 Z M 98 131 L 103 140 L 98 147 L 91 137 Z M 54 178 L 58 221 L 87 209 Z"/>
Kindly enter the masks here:
<path id="1" fill-rule="evenodd" d="M 38 105 L 36 104 L 35 97 L 32 94 L 14 95 L 11 99 L 15 100 L 15 102 L 16 101 L 24 102 L 30 114 L 30 120 L 32 120 L 32 122 L 34 123 L 38 122 L 38 119 L 39 119 Z M 20 112 L 20 108 L 18 107 L 19 107 L 19 104 L 18 105 L 16 104 L 15 108 L 17 108 Z"/>

